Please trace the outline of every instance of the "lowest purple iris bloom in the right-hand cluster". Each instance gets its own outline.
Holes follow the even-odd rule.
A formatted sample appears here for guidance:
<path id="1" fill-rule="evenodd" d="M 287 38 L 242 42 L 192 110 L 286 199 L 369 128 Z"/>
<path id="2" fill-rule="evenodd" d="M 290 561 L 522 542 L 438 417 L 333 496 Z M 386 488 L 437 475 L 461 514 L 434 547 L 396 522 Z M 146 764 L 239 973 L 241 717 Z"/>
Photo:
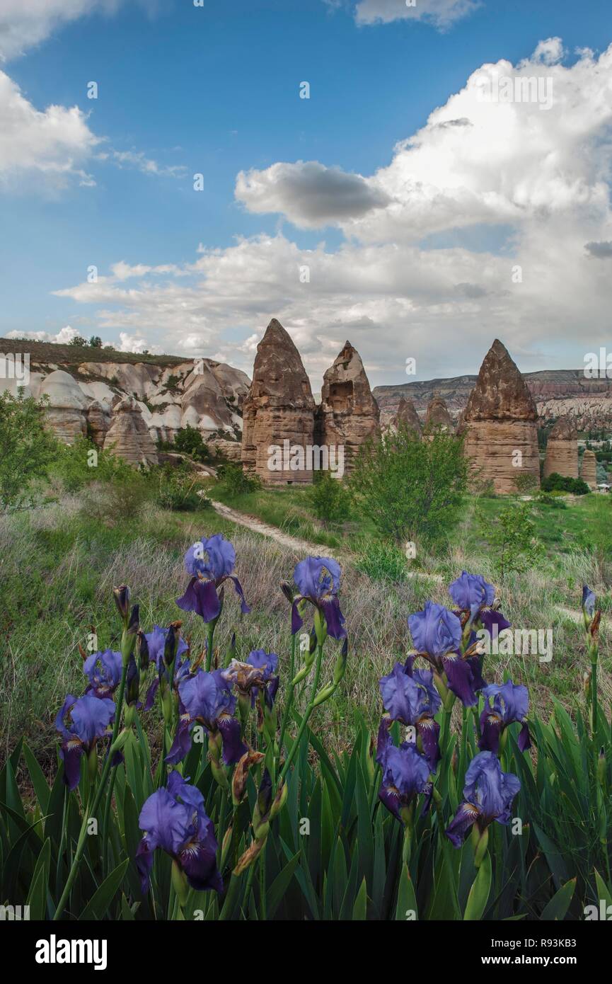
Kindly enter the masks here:
<path id="1" fill-rule="evenodd" d="M 520 791 L 520 779 L 512 772 L 503 772 L 499 759 L 493 752 L 480 752 L 465 772 L 463 800 L 446 834 L 454 847 L 460 847 L 463 838 L 477 824 L 482 832 L 494 820 L 508 825 L 515 796 Z"/>

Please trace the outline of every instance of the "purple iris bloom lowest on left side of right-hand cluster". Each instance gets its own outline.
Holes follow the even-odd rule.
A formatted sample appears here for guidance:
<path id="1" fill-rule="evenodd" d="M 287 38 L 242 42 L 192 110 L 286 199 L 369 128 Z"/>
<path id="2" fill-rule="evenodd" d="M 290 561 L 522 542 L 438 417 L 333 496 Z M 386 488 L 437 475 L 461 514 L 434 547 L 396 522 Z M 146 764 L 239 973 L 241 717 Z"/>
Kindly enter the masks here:
<path id="1" fill-rule="evenodd" d="M 409 807 L 419 793 L 426 794 L 424 809 L 427 809 L 432 784 L 429 781 L 427 760 L 408 742 L 403 742 L 397 748 L 392 741 L 388 724 L 382 724 L 379 731 L 377 762 L 382 766 L 383 778 L 378 795 L 394 817 L 402 821 L 401 811 Z"/>

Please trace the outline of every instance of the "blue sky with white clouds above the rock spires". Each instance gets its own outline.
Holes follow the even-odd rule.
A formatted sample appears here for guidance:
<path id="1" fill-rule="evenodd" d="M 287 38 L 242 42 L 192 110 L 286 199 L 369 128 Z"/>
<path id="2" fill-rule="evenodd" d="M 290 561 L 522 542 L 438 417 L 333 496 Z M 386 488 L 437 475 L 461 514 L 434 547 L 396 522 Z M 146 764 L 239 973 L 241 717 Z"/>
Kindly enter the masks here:
<path id="1" fill-rule="evenodd" d="M 574 191 L 571 200 L 533 190 L 542 182 L 551 189 L 556 182 L 554 171 L 534 176 L 533 160 L 522 158 L 521 144 L 528 144 L 532 125 L 540 126 L 546 115 L 538 107 L 528 120 L 521 119 L 513 147 L 499 164 L 504 184 L 510 175 L 514 188 L 501 189 L 495 175 L 483 175 L 467 197 L 467 213 L 473 205 L 473 214 L 466 215 L 459 202 L 459 221 L 455 209 L 440 221 L 423 217 L 422 203 L 417 208 L 413 196 L 402 198 L 398 192 L 398 181 L 403 185 L 404 178 L 390 174 L 396 189 L 390 191 L 385 174 L 397 160 L 398 142 L 426 127 L 430 113 L 445 107 L 481 66 L 506 59 L 516 67 L 547 38 L 560 38 L 562 53 L 540 55 L 533 65 L 551 75 L 563 73 L 559 86 L 565 86 L 564 98 L 575 92 L 579 102 L 584 98 L 592 106 L 595 65 L 612 41 L 607 0 L 583 3 L 580 12 L 573 0 L 538 0 L 535 5 L 529 0 L 483 0 L 443 25 L 435 22 L 436 10 L 448 8 L 452 17 L 463 4 L 470 7 L 470 0 L 433 0 L 429 17 L 432 0 L 421 0 L 418 16 L 423 20 L 416 15 L 401 19 L 406 14 L 398 0 L 400 19 L 384 24 L 357 23 L 355 3 L 324 0 L 204 0 L 203 8 L 190 0 L 118 0 L 112 13 L 99 0 L 93 6 L 100 9 L 90 14 L 90 5 L 82 0 L 47 0 L 57 17 L 34 27 L 24 21 L 15 0 L 6 2 L 8 13 L 0 13 L 0 28 L 6 27 L 4 18 L 9 27 L 17 24 L 19 35 L 18 50 L 9 50 L 0 64 L 11 84 L 10 89 L 9 83 L 5 86 L 9 105 L 19 87 L 28 113 L 45 113 L 50 105 L 68 113 L 78 106 L 83 132 L 71 138 L 72 144 L 67 141 L 67 147 L 49 149 L 44 121 L 38 119 L 44 130 L 40 139 L 32 124 L 24 160 L 9 151 L 8 162 L 0 136 L 2 335 L 46 333 L 53 338 L 71 326 L 124 348 L 223 357 L 249 371 L 256 341 L 276 316 L 304 350 L 315 383 L 351 329 L 351 340 L 363 349 L 375 383 L 401 379 L 404 350 L 405 357 L 417 356 L 416 378 L 428 378 L 476 371 L 495 335 L 507 341 L 524 369 L 580 365 L 582 351 L 590 350 L 585 329 L 592 333 L 591 348 L 605 342 L 605 294 L 601 309 L 595 300 L 612 261 L 605 246 L 598 259 L 583 246 L 612 239 L 609 196 L 606 205 L 601 193 L 609 174 L 603 155 L 594 169 L 590 153 L 579 166 L 562 109 L 555 132 L 550 121 L 557 107 L 548 114 L 545 138 L 548 159 L 551 154 L 559 157 L 559 173 L 567 173 L 563 155 L 573 155 L 577 173 L 568 183 Z M 394 0 L 363 2 L 375 12 L 380 4 L 386 17 L 394 15 Z M 33 43 L 31 38 L 40 34 Z M 577 49 L 585 48 L 592 52 L 591 74 L 585 66 L 580 79 L 572 79 L 570 69 L 583 60 Z M 608 59 L 597 73 L 602 96 L 610 86 L 609 72 Z M 309 99 L 299 98 L 304 80 L 311 87 Z M 87 98 L 90 81 L 98 84 L 94 100 Z M 16 127 L 20 123 L 18 117 Z M 471 122 L 467 126 L 473 130 Z M 487 126 L 480 127 L 484 136 L 478 153 L 484 155 Z M 491 145 L 499 144 L 499 131 L 492 127 L 490 134 Z M 602 110 L 586 128 L 583 143 L 593 141 L 599 151 L 609 134 L 610 117 Z M 429 153 L 434 151 L 452 173 L 456 149 L 436 145 Z M 297 161 L 314 161 L 321 169 L 310 177 L 292 171 L 282 190 L 284 172 L 269 169 Z M 407 166 L 411 180 L 409 158 Z M 317 182 L 326 181 L 330 169 L 340 181 L 345 175 L 363 176 L 364 189 L 367 184 L 369 194 L 384 196 L 389 208 L 377 206 L 370 213 L 373 225 L 367 214 L 338 216 L 334 209 L 323 217 L 319 209 L 313 218 L 309 196 L 317 195 Z M 428 169 L 425 165 L 425 174 Z M 381 170 L 385 174 L 379 180 Z M 251 178 L 242 200 L 236 201 L 241 171 L 251 172 Z M 202 192 L 193 188 L 196 172 L 204 176 Z M 430 212 L 447 200 L 447 185 L 442 174 L 428 199 Z M 509 202 L 491 214 L 489 199 L 501 191 Z M 455 190 L 453 197 L 458 194 Z M 287 204 L 290 195 L 302 203 L 297 212 Z M 487 203 L 484 212 L 482 202 Z M 391 215 L 394 209 L 401 214 L 399 231 L 395 215 L 389 225 L 383 222 L 386 211 Z M 548 240 L 542 223 L 549 225 L 544 230 Z M 504 288 L 497 282 L 499 261 L 522 256 L 535 272 L 537 264 L 545 263 L 547 242 L 558 249 L 559 237 L 566 235 L 570 243 L 574 237 L 581 243 L 577 256 L 585 261 L 586 274 L 576 282 L 583 280 L 588 293 L 587 311 L 576 298 L 568 310 L 557 296 L 553 267 L 561 266 L 558 258 L 551 259 L 545 274 L 538 267 L 539 291 L 531 285 L 524 292 L 529 296 L 505 311 Z M 239 256 L 237 237 L 246 244 Z M 262 237 L 272 244 L 268 261 L 262 258 Z M 250 242 L 255 244 L 251 254 Z M 394 273 L 402 253 L 414 274 L 405 289 Z M 479 255 L 486 258 L 483 267 L 490 266 L 486 282 L 477 277 Z M 315 269 L 317 263 L 325 269 L 325 289 L 321 277 L 318 287 L 311 281 L 312 290 L 305 290 L 297 277 L 284 275 L 286 282 L 282 277 L 279 281 L 283 258 L 292 264 L 300 256 L 312 257 Z M 202 268 L 195 267 L 199 258 Z M 113 265 L 121 261 L 134 268 L 163 269 L 112 277 Z M 437 288 L 434 282 L 441 264 L 448 264 L 449 282 L 455 286 L 476 286 L 460 287 L 460 300 L 449 300 L 444 283 Z M 88 293 L 90 265 L 108 278 L 104 290 Z M 174 272 L 168 274 L 168 267 Z M 251 294 L 257 297 L 249 304 L 249 290 L 236 289 L 236 278 L 249 280 L 253 270 L 257 289 Z M 373 270 L 377 281 L 370 283 L 369 293 L 361 293 L 360 281 Z M 557 276 L 567 283 L 562 269 Z M 54 293 L 61 290 L 70 293 Z M 199 290 L 204 290 L 202 296 Z M 480 306 L 478 291 L 488 298 Z M 185 325 L 182 305 L 189 312 Z M 560 317 L 563 324 L 556 334 Z M 587 318 L 587 326 L 581 317 Z M 508 338 L 503 335 L 506 326 Z M 451 339 L 459 342 L 452 354 Z"/>

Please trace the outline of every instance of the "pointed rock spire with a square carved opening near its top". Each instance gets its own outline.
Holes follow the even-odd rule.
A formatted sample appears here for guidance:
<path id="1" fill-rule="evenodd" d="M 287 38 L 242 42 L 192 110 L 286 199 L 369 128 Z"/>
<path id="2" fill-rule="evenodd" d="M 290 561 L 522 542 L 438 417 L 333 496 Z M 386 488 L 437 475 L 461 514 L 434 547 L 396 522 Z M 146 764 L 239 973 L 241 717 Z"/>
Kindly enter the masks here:
<path id="1" fill-rule="evenodd" d="M 315 443 L 328 449 L 343 447 L 347 473 L 359 446 L 380 432 L 380 410 L 363 362 L 356 348 L 345 341 L 323 377 L 321 403 L 315 416 Z"/>

